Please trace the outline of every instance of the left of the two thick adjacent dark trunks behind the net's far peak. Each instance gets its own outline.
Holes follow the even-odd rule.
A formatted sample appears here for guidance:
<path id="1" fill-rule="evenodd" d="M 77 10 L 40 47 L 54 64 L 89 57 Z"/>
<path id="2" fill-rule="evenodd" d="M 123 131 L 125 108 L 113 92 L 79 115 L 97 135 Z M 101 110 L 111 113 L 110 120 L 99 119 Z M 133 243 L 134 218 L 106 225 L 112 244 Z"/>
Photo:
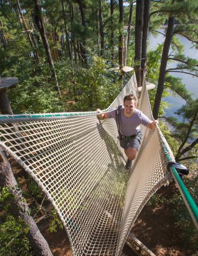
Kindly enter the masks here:
<path id="1" fill-rule="evenodd" d="M 136 23 L 135 23 L 135 74 L 137 86 L 142 86 L 141 59 L 142 59 L 142 35 L 143 35 L 143 11 L 144 0 L 136 2 Z"/>

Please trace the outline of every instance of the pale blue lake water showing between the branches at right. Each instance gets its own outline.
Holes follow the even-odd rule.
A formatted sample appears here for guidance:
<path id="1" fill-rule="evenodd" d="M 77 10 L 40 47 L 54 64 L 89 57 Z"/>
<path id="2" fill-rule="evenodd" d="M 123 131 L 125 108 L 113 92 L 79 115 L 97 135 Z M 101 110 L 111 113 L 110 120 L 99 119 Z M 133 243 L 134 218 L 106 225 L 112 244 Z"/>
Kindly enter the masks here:
<path id="1" fill-rule="evenodd" d="M 165 30 L 158 29 L 158 31 L 164 33 Z M 184 45 L 184 54 L 190 58 L 198 60 L 198 50 L 196 50 L 195 47 L 193 47 L 192 42 L 184 38 L 184 36 L 182 35 L 177 35 L 177 38 Z M 157 37 L 154 37 L 152 34 L 150 34 L 148 39 L 149 39 L 149 49 L 156 49 L 158 44 L 161 44 L 164 42 L 165 37 L 162 34 L 158 34 Z M 177 63 L 181 63 L 181 62 L 177 62 L 177 61 L 169 62 L 168 68 L 176 67 Z M 193 94 L 192 97 L 193 98 L 198 97 L 198 77 L 193 77 L 191 75 L 177 73 L 177 72 L 170 72 L 169 74 L 174 77 L 182 78 L 182 83 L 185 84 L 186 89 Z M 168 97 L 165 97 L 163 100 L 172 104 L 172 106 L 169 106 L 169 108 L 166 109 L 165 116 L 174 116 L 178 118 L 178 115 L 174 114 L 174 112 L 178 108 L 180 108 L 182 105 L 185 104 L 185 100 L 182 99 L 180 96 L 174 96 L 173 94 Z M 178 119 L 181 121 L 181 118 L 178 118 Z"/>

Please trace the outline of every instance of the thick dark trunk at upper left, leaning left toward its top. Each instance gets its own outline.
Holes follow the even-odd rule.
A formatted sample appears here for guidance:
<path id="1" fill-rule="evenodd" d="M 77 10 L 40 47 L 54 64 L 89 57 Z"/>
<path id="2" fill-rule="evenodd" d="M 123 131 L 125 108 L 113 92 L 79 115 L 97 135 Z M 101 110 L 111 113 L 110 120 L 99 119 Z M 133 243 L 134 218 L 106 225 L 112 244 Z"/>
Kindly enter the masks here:
<path id="1" fill-rule="evenodd" d="M 34 21 L 35 21 L 35 24 L 37 26 L 37 29 L 40 32 L 40 35 L 41 35 L 41 38 L 42 38 L 42 41 L 43 41 L 46 57 L 48 59 L 48 63 L 50 65 L 51 72 L 52 72 L 52 78 L 55 80 L 56 88 L 58 90 L 59 96 L 61 97 L 61 91 L 60 91 L 58 78 L 56 76 L 54 63 L 53 63 L 52 56 L 51 56 L 50 46 L 49 46 L 48 38 L 47 38 L 46 33 L 45 33 L 45 27 L 44 27 L 43 19 L 42 19 L 42 12 L 40 10 L 40 6 L 37 3 L 37 1 L 38 0 L 34 0 L 34 4 L 35 4 Z"/>

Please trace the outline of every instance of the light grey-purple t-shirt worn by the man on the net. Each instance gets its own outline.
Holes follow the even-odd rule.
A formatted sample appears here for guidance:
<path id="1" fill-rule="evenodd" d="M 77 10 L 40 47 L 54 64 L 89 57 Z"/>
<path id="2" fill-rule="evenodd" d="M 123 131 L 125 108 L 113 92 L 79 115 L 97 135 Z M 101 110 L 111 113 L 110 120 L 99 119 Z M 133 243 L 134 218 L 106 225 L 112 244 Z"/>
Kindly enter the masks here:
<path id="1" fill-rule="evenodd" d="M 111 112 L 108 113 L 108 118 L 114 118 L 116 120 L 116 109 L 112 109 Z M 149 118 L 142 113 L 139 109 L 135 108 L 133 115 L 130 117 L 126 117 L 124 115 L 124 106 L 120 109 L 120 119 L 121 123 L 119 125 L 119 130 L 121 135 L 131 136 L 136 134 L 140 128 L 140 124 L 148 125 L 150 123 Z"/>

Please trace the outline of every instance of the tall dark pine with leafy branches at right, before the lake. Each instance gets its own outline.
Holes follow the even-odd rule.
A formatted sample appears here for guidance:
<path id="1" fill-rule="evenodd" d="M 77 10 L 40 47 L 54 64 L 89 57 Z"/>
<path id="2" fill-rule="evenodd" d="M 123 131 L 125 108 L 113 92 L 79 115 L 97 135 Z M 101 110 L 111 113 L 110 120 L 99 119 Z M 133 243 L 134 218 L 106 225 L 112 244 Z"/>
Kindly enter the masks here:
<path id="1" fill-rule="evenodd" d="M 157 93 L 155 97 L 154 102 L 154 108 L 153 108 L 153 116 L 156 119 L 158 117 L 159 113 L 159 106 L 161 103 L 162 93 L 164 90 L 164 83 L 167 77 L 167 74 L 169 72 L 182 72 L 186 74 L 190 74 L 193 76 L 198 76 L 198 70 L 195 69 L 196 63 L 195 60 L 187 60 L 182 54 L 168 54 L 170 46 L 172 44 L 172 48 L 175 48 L 175 45 L 177 47 L 177 42 L 175 41 L 174 34 L 181 34 L 185 36 L 188 40 L 192 41 L 193 43 L 197 42 L 197 11 L 198 11 L 198 3 L 197 1 L 170 1 L 167 3 L 164 3 L 165 6 L 161 6 L 159 10 L 156 10 L 150 14 L 158 14 L 161 11 L 165 13 L 169 13 L 168 18 L 168 26 L 167 26 L 167 32 L 165 36 L 164 41 L 164 48 L 162 53 L 162 59 L 161 59 L 161 67 L 159 71 L 159 78 L 158 78 L 158 86 L 157 86 Z M 189 13 L 191 15 L 189 15 Z M 177 19 L 177 23 L 174 28 L 175 23 L 175 17 Z M 177 47 L 178 48 L 178 47 Z M 177 60 L 181 63 L 178 64 L 176 68 L 166 69 L 167 66 L 167 60 Z M 190 69 L 193 72 L 188 71 L 181 71 L 181 69 Z M 174 85 L 172 85 L 172 88 L 174 89 Z"/>

